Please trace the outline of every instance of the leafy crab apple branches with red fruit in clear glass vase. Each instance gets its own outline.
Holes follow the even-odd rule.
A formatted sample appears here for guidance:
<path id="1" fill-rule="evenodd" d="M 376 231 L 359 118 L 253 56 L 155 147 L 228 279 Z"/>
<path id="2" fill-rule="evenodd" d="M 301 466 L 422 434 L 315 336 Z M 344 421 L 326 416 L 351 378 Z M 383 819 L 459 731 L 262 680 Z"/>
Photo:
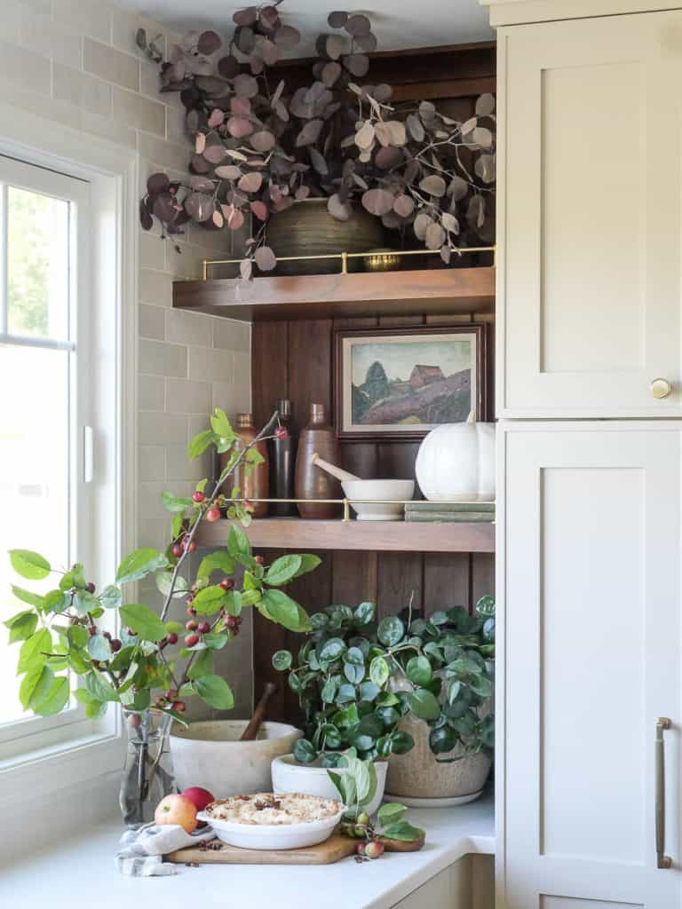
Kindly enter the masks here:
<path id="1" fill-rule="evenodd" d="M 252 554 L 246 534 L 233 524 L 226 548 L 202 559 L 194 581 L 187 574 L 187 557 L 196 549 L 196 532 L 203 521 L 216 521 L 223 509 L 248 524 L 250 515 L 226 498 L 224 484 L 240 465 L 246 464 L 248 470 L 259 462 L 255 445 L 260 439 L 283 431 L 275 413 L 253 443 L 236 445 L 232 425 L 223 411 L 216 410 L 210 426 L 190 441 L 189 456 L 196 458 L 209 447 L 226 453 L 217 482 L 207 492 L 208 482 L 202 480 L 187 497 L 163 493 L 165 507 L 173 514 L 168 547 L 165 552 L 136 549 L 121 562 L 112 584 L 95 587 L 82 564 L 62 570 L 35 552 L 15 549 L 9 554 L 22 578 L 55 578 L 46 594 L 12 588 L 25 604 L 5 622 L 10 642 L 21 645 L 21 703 L 48 716 L 60 713 L 75 697 L 90 718 L 104 714 L 109 704 L 121 705 L 130 730 L 121 785 L 126 824 L 149 819 L 156 802 L 170 790 L 165 740 L 174 720 L 186 724 L 186 698 L 197 696 L 216 710 L 233 706 L 230 686 L 214 672 L 213 658 L 238 634 L 242 610 L 256 607 L 291 631 L 311 628 L 305 610 L 282 587 L 315 569 L 319 564 L 315 555 L 287 555 L 266 566 L 262 556 Z M 236 494 L 233 490 L 235 498 Z M 243 569 L 239 585 L 237 566 Z M 131 584 L 150 575 L 164 595 L 159 611 L 126 602 L 125 588 L 130 590 Z M 176 598 L 186 599 L 184 624 L 169 620 Z M 111 630 L 105 630 L 107 625 Z M 74 677 L 79 684 L 72 691 Z M 266 755 L 268 764 L 271 756 Z"/>

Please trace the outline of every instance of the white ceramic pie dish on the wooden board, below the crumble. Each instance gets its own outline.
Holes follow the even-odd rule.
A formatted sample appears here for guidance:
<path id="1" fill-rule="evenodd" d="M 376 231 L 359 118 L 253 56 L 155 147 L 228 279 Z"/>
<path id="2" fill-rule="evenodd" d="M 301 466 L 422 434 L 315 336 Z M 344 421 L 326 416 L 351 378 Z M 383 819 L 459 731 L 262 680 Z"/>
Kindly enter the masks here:
<path id="1" fill-rule="evenodd" d="M 217 838 L 229 846 L 240 846 L 242 849 L 301 849 L 329 839 L 345 811 L 346 807 L 342 806 L 332 817 L 302 824 L 238 824 L 236 821 L 220 821 L 205 811 L 200 811 L 196 817 L 210 824 Z"/>

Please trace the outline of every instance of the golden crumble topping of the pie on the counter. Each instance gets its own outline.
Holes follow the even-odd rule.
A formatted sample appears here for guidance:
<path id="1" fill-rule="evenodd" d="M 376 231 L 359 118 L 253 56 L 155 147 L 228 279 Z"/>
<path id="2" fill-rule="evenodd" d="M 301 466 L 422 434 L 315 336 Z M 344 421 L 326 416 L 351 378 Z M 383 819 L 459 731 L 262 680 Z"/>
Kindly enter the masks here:
<path id="1" fill-rule="evenodd" d="M 206 814 L 236 824 L 306 824 L 333 817 L 342 808 L 337 799 L 317 795 L 256 793 L 216 799 L 206 805 Z"/>

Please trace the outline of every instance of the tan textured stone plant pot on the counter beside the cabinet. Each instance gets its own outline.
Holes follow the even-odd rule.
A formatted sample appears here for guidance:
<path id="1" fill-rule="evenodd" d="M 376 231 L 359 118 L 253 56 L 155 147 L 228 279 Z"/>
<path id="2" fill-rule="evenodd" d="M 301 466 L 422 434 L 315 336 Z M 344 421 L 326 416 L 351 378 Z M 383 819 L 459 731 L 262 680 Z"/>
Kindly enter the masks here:
<path id="1" fill-rule="evenodd" d="M 407 754 L 392 755 L 386 780 L 387 793 L 413 799 L 476 797 L 480 794 L 492 766 L 487 754 L 479 752 L 459 757 L 462 748 L 457 745 L 451 752 L 438 757 L 459 757 L 459 760 L 441 764 L 428 744 L 431 729 L 424 720 L 404 716 L 398 728 L 414 738 L 415 747 Z"/>

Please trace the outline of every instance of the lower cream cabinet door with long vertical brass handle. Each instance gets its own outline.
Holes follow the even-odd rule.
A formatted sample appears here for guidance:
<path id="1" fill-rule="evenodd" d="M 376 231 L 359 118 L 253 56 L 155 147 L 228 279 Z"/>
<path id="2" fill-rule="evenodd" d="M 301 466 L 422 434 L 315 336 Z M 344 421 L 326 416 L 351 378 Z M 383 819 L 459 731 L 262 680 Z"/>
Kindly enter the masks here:
<path id="1" fill-rule="evenodd" d="M 505 427 L 506 909 L 682 899 L 680 439 L 671 424 Z M 658 716 L 673 721 L 670 870 L 654 848 Z"/>

